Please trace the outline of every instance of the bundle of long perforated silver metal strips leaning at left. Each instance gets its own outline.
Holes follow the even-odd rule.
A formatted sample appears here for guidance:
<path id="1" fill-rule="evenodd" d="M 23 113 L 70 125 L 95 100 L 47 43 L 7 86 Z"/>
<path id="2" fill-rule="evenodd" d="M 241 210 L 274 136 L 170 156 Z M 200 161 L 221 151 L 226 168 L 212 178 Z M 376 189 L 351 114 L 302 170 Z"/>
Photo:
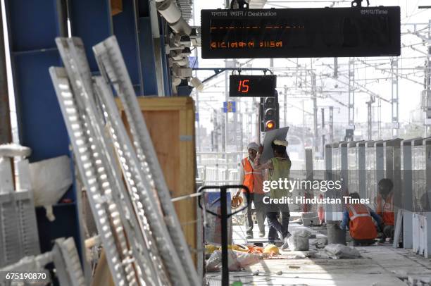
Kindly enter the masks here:
<path id="1" fill-rule="evenodd" d="M 57 38 L 56 44 L 65 68 L 49 71 L 113 282 L 198 285 L 118 42 L 110 37 L 94 46 L 98 77 L 79 38 Z"/>

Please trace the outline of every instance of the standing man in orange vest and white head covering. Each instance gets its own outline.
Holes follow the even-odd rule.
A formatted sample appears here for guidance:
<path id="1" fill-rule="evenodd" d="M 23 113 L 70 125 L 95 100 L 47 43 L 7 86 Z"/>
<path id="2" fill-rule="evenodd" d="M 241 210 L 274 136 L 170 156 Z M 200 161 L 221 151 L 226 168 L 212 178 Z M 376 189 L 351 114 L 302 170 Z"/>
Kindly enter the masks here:
<path id="1" fill-rule="evenodd" d="M 253 218 L 251 202 L 254 203 L 254 209 L 256 211 L 256 220 L 259 228 L 259 237 L 265 236 L 265 206 L 263 205 L 263 176 L 261 170 L 254 170 L 254 161 L 258 153 L 259 146 L 255 142 L 251 142 L 247 149 L 249 156 L 243 158 L 241 161 L 241 171 L 239 173 L 240 184 L 249 188 L 250 193 L 248 194 L 245 189 L 242 189 L 242 193 L 245 196 L 244 199 L 249 201 L 249 205 L 246 208 L 245 225 L 246 225 L 246 238 L 253 238 Z M 235 197 L 239 196 L 241 190 L 239 189 Z"/>

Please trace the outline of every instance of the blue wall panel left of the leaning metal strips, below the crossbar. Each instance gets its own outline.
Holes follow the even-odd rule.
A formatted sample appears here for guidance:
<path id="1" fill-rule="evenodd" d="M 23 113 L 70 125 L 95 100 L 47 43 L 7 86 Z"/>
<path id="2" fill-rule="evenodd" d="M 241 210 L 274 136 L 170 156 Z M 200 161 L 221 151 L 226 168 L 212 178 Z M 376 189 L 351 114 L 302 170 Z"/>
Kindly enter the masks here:
<path id="1" fill-rule="evenodd" d="M 21 140 L 32 148 L 31 161 L 68 154 L 68 134 L 48 73 L 50 66 L 60 65 L 58 51 L 15 54 L 13 58 Z"/>

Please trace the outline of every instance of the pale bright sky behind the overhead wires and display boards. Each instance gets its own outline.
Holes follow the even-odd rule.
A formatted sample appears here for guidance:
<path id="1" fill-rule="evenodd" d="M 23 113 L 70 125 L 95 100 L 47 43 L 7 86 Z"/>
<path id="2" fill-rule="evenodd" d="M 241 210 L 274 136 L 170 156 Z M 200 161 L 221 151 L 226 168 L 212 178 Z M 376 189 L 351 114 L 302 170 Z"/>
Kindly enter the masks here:
<path id="1" fill-rule="evenodd" d="M 224 8 L 223 0 L 215 0 L 215 1 L 204 1 L 204 0 L 194 0 L 195 3 L 195 12 L 194 19 L 192 17 L 191 24 L 193 25 L 193 20 L 195 20 L 196 25 L 200 25 L 200 10 L 201 9 L 215 9 L 215 8 Z M 349 7 L 351 1 L 335 1 L 335 7 Z M 330 6 L 332 1 L 273 1 L 270 0 L 267 2 L 264 8 L 300 8 L 300 7 L 325 7 Z M 401 49 L 401 56 L 398 58 L 399 60 L 399 68 L 402 68 L 401 73 L 408 77 L 408 79 L 414 80 L 418 83 L 399 79 L 399 121 L 400 123 L 409 123 L 412 120 L 412 116 L 418 117 L 418 113 L 421 112 L 418 108 L 420 106 L 420 98 L 421 92 L 423 90 L 423 80 L 424 73 L 423 69 L 418 67 L 424 66 L 425 64 L 425 56 L 422 53 L 427 51 L 426 46 L 423 44 L 423 41 L 416 37 L 416 35 L 408 34 L 408 29 L 413 30 L 413 25 L 406 25 L 411 23 L 428 23 L 431 20 L 431 9 L 418 9 L 418 6 L 430 5 L 430 0 L 370 0 L 370 6 L 400 6 L 401 7 L 401 44 L 406 45 Z M 366 5 L 366 0 L 363 1 L 363 5 Z M 197 12 L 197 13 L 196 13 Z M 427 28 L 427 25 L 418 25 L 419 29 Z M 427 30 L 426 30 L 427 31 Z M 421 31 L 425 32 L 425 30 Z M 426 33 L 422 35 L 427 36 Z M 411 45 L 413 45 L 412 49 Z M 418 51 L 417 51 L 418 50 Z M 421 53 L 422 52 L 422 53 Z M 200 55 L 200 48 L 197 49 L 198 56 Z M 347 81 L 347 63 L 349 58 L 339 58 L 339 80 L 335 81 L 328 78 L 327 74 L 332 73 L 332 69 L 327 67 L 327 64 L 333 66 L 333 58 L 276 58 L 274 60 L 275 74 L 277 77 L 277 87 L 279 92 L 284 91 L 285 85 L 289 88 L 287 92 L 287 102 L 288 102 L 288 110 L 287 110 L 287 122 L 300 125 L 303 121 L 303 111 L 301 110 L 303 101 L 304 101 L 304 109 L 306 111 L 306 121 L 308 123 L 312 123 L 312 117 L 308 115 L 308 112 L 313 112 L 313 105 L 311 99 L 309 99 L 309 94 L 304 94 L 303 86 L 299 86 L 298 82 L 305 77 L 299 77 L 299 79 L 294 76 L 292 73 L 287 73 L 286 68 L 294 68 L 296 67 L 296 61 L 302 67 L 311 67 L 311 63 L 313 64 L 313 68 L 316 68 L 317 77 L 317 85 L 318 87 L 323 87 L 325 90 L 333 90 L 336 91 L 331 94 L 337 101 L 340 101 L 344 104 L 348 102 L 348 94 L 346 93 L 347 87 L 342 82 Z M 384 99 L 391 99 L 392 96 L 392 80 L 391 75 L 388 73 L 390 71 L 390 58 L 356 58 L 356 80 L 357 83 L 363 85 L 367 89 L 375 92 L 380 95 L 380 97 Z M 249 61 L 247 59 L 239 59 L 240 63 L 244 63 Z M 368 65 L 375 65 L 379 70 L 373 67 L 367 67 L 363 64 L 363 61 L 368 63 Z M 225 65 L 223 60 L 203 60 L 199 58 L 199 67 L 200 68 L 215 68 L 215 67 L 223 67 Z M 268 68 L 270 66 L 270 59 L 254 59 L 250 61 L 249 66 L 252 68 Z M 283 70 L 284 69 L 284 70 Z M 287 73 L 287 75 L 286 75 Z M 259 72 L 255 72 L 254 74 L 259 74 Z M 206 77 L 212 75 L 211 71 L 199 71 L 197 76 L 204 80 Z M 309 78 L 307 79 L 309 80 Z M 199 93 L 199 119 L 201 120 L 201 125 L 211 129 L 211 108 L 220 108 L 223 106 L 223 101 L 225 101 L 225 76 L 220 75 L 215 79 L 209 81 L 206 84 L 204 92 Z M 192 94 L 196 99 L 196 95 Z M 356 123 L 365 123 L 367 120 L 367 106 L 366 101 L 369 100 L 369 95 L 366 93 L 358 93 L 356 92 L 355 96 L 355 121 Z M 251 99 L 241 99 L 240 108 L 244 112 L 247 110 L 251 110 Z M 280 106 L 283 105 L 284 96 L 280 97 Z M 377 101 L 373 106 L 377 106 L 379 102 Z M 335 115 L 334 121 L 335 123 L 339 123 L 342 125 L 347 124 L 348 120 L 348 111 L 345 106 L 342 106 L 335 102 L 332 99 L 318 99 L 318 106 L 320 108 L 326 108 L 327 106 L 335 107 Z M 381 102 L 381 113 L 380 118 L 383 123 L 391 122 L 392 113 L 391 113 L 391 104 L 386 103 L 385 101 Z M 378 108 L 374 107 L 374 116 L 377 118 Z M 283 115 L 283 111 L 281 111 Z M 283 120 L 283 118 L 280 118 Z M 320 119 L 319 119 L 320 120 Z"/>

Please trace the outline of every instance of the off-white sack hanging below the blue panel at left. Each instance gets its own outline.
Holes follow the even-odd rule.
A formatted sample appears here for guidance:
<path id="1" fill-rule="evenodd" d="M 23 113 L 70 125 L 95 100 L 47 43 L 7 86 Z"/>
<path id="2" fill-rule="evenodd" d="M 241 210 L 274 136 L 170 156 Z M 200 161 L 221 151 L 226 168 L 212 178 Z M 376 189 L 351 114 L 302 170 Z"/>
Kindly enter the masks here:
<path id="1" fill-rule="evenodd" d="M 72 170 L 70 158 L 60 156 L 30 164 L 35 206 L 44 206 L 46 217 L 55 220 L 52 205 L 56 204 L 72 185 Z"/>

